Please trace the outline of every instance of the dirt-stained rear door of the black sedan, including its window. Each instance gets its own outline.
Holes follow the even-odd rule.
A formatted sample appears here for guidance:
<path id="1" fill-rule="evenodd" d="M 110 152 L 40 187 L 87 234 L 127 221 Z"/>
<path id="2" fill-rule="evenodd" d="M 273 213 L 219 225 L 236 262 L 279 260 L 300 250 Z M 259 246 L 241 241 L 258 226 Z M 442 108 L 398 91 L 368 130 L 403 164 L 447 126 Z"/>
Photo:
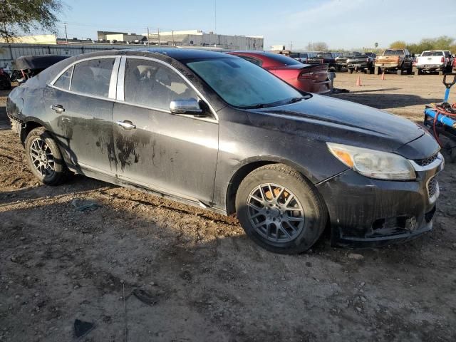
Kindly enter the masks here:
<path id="1" fill-rule="evenodd" d="M 115 175 L 112 116 L 119 63 L 115 56 L 78 61 L 46 87 L 53 133 L 77 169 Z"/>

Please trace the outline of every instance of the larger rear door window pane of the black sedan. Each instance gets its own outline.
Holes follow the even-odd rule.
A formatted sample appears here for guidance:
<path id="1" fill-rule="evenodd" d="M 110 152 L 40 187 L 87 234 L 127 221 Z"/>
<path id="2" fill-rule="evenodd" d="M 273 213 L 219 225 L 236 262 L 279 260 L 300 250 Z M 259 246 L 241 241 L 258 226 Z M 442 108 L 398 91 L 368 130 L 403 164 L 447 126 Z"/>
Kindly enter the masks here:
<path id="1" fill-rule="evenodd" d="M 115 58 L 100 58 L 76 64 L 71 90 L 107 98 L 114 61 Z"/>

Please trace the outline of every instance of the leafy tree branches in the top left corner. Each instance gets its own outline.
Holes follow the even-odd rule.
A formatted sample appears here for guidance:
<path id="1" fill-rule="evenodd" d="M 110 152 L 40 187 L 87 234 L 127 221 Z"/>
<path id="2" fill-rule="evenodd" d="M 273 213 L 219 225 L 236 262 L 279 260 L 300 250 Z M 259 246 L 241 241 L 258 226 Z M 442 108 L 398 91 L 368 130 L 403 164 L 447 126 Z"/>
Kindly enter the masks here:
<path id="1" fill-rule="evenodd" d="M 61 0 L 0 0 L 0 37 L 11 41 L 19 33 L 42 29 L 56 33 Z"/>

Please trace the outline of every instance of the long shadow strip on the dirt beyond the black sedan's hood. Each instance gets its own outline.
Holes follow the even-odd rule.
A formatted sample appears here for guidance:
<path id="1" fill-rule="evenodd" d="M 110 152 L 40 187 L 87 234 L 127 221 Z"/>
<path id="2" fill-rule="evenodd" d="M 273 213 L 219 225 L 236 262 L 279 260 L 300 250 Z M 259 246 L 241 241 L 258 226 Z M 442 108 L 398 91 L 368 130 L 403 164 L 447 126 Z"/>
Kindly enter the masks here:
<path id="1" fill-rule="evenodd" d="M 379 89 L 376 91 L 382 91 Z M 403 108 L 411 105 L 427 105 L 428 103 L 441 102 L 442 98 L 422 98 L 418 95 L 405 94 L 383 94 L 383 93 L 368 93 L 357 91 L 353 93 L 333 94 L 334 98 L 348 100 L 362 105 L 369 105 L 377 109 Z"/>

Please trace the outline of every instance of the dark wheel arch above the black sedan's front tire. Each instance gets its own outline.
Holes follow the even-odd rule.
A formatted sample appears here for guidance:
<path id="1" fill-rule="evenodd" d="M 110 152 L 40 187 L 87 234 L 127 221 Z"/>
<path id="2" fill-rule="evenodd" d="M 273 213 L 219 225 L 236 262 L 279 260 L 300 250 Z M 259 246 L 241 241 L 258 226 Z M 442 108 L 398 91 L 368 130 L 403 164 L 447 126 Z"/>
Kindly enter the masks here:
<path id="1" fill-rule="evenodd" d="M 286 160 L 284 158 L 276 156 L 247 158 L 239 164 L 239 167 L 237 167 L 237 169 L 233 172 L 232 177 L 229 180 L 225 199 L 227 215 L 234 214 L 234 212 L 236 212 L 236 195 L 242 180 L 244 180 L 244 178 L 247 177 L 250 172 L 256 170 L 259 167 L 269 164 L 287 165 L 294 168 L 294 170 L 299 172 L 303 177 L 306 177 L 306 179 L 308 179 L 312 184 L 318 182 L 318 180 L 316 180 L 316 178 L 311 175 L 308 170 L 291 160 Z"/>

